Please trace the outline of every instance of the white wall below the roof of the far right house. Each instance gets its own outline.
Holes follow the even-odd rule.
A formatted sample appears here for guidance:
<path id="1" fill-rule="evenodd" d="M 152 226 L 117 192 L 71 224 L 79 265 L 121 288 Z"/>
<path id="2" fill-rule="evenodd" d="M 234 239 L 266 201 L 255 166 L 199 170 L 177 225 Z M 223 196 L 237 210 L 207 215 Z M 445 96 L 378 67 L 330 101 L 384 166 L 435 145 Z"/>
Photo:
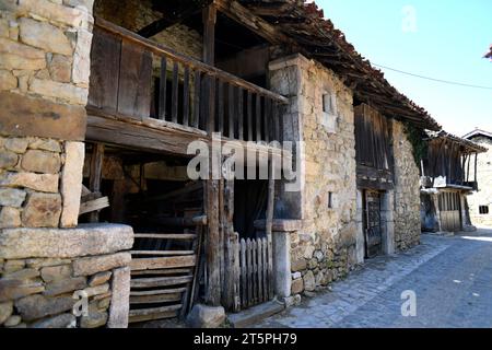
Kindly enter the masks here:
<path id="1" fill-rule="evenodd" d="M 468 196 L 470 219 L 473 225 L 492 228 L 492 140 L 487 137 L 475 137 L 472 141 L 487 148 L 488 151 L 478 155 L 477 177 L 479 190 Z M 472 171 L 473 167 L 471 167 L 470 172 Z M 489 214 L 480 214 L 480 206 L 489 206 Z"/>

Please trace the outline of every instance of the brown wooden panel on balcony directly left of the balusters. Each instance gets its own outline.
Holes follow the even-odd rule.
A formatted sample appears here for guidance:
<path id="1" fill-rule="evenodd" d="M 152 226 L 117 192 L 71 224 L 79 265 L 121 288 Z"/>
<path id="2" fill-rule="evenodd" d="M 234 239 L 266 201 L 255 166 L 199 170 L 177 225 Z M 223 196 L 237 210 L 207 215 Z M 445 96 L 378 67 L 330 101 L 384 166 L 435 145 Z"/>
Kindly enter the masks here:
<path id="1" fill-rule="evenodd" d="M 152 55 L 124 40 L 119 69 L 117 112 L 137 119 L 150 116 Z"/>

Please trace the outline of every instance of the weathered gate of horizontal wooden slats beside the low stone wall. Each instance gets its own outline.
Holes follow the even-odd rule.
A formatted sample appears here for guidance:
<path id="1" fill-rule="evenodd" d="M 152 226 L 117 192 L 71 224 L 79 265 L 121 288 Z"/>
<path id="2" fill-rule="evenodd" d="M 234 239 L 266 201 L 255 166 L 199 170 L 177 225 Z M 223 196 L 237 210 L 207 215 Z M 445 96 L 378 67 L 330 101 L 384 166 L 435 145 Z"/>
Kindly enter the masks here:
<path id="1" fill-rule="evenodd" d="M 131 252 L 129 323 L 186 315 L 198 280 L 202 232 L 197 224 L 185 233 L 134 234 L 149 248 Z M 168 249 L 176 244 L 191 248 Z"/>

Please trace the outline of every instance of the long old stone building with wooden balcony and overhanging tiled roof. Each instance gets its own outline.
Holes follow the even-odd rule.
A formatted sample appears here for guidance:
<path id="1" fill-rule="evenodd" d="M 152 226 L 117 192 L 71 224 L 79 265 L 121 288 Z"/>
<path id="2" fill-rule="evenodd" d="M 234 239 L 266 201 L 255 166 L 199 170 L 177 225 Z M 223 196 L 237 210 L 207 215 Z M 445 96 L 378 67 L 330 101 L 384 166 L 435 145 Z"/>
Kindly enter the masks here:
<path id="1" fill-rule="evenodd" d="M 0 42 L 1 326 L 289 305 L 419 244 L 440 126 L 314 3 L 1 0 Z"/>

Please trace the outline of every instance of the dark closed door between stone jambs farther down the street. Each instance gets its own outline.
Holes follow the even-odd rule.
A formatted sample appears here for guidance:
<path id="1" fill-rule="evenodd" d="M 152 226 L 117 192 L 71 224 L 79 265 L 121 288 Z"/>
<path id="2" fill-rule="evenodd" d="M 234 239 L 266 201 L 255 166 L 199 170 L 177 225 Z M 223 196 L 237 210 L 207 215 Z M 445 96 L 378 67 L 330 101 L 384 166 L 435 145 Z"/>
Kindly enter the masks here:
<path id="1" fill-rule="evenodd" d="M 371 258 L 382 253 L 380 194 L 365 191 L 365 254 Z"/>

